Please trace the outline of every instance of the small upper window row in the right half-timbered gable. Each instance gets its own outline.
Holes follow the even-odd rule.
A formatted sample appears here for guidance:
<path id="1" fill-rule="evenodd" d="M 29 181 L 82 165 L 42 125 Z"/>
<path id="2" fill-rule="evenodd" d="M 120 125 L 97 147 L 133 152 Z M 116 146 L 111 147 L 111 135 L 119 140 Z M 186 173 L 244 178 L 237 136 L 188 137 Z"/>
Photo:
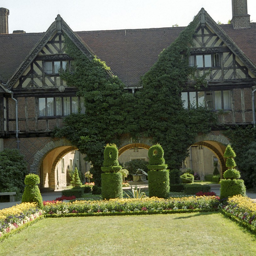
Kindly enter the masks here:
<path id="1" fill-rule="evenodd" d="M 200 54 L 200 55 L 190 55 L 189 56 L 189 66 L 190 67 L 219 67 L 219 54 Z"/>

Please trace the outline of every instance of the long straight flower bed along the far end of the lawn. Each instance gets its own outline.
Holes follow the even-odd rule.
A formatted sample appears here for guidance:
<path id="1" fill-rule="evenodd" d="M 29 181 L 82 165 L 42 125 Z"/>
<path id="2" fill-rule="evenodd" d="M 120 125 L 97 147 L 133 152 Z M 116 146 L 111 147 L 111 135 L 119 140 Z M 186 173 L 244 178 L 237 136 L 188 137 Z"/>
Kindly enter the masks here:
<path id="1" fill-rule="evenodd" d="M 74 201 L 45 205 L 46 217 L 155 214 L 217 211 L 218 196 L 162 199 L 157 197 L 110 199 L 109 201 Z"/>

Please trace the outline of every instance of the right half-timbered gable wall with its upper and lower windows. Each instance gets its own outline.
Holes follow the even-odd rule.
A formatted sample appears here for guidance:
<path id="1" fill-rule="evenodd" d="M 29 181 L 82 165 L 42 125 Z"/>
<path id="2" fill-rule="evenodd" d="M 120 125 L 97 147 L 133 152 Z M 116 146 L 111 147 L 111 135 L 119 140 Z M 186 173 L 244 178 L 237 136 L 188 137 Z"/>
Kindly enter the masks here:
<path id="1" fill-rule="evenodd" d="M 195 19 L 198 26 L 189 65 L 196 67 L 195 76 L 205 75 L 207 86 L 198 90 L 193 79 L 188 81 L 182 93 L 184 107 L 217 111 L 220 124 L 251 123 L 248 98 L 256 80 L 255 65 L 203 8 Z"/>

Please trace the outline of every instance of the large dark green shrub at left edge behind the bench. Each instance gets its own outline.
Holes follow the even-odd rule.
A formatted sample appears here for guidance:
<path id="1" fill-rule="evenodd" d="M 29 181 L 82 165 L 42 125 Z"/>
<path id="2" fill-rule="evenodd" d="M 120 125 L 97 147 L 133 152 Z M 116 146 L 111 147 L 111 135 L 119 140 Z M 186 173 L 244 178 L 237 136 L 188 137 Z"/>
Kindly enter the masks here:
<path id="1" fill-rule="evenodd" d="M 15 199 L 20 200 L 27 174 L 27 163 L 18 149 L 6 148 L 0 152 L 0 192 L 16 191 Z"/>

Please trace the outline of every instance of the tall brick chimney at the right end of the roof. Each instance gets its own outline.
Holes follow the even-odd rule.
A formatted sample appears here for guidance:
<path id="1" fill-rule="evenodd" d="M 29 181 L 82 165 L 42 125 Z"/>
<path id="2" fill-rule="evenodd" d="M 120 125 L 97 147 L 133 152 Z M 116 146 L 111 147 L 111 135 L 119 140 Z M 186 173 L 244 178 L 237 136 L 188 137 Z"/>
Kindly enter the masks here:
<path id="1" fill-rule="evenodd" d="M 247 13 L 247 0 L 232 0 L 232 20 L 234 28 L 249 28 L 250 15 Z"/>

